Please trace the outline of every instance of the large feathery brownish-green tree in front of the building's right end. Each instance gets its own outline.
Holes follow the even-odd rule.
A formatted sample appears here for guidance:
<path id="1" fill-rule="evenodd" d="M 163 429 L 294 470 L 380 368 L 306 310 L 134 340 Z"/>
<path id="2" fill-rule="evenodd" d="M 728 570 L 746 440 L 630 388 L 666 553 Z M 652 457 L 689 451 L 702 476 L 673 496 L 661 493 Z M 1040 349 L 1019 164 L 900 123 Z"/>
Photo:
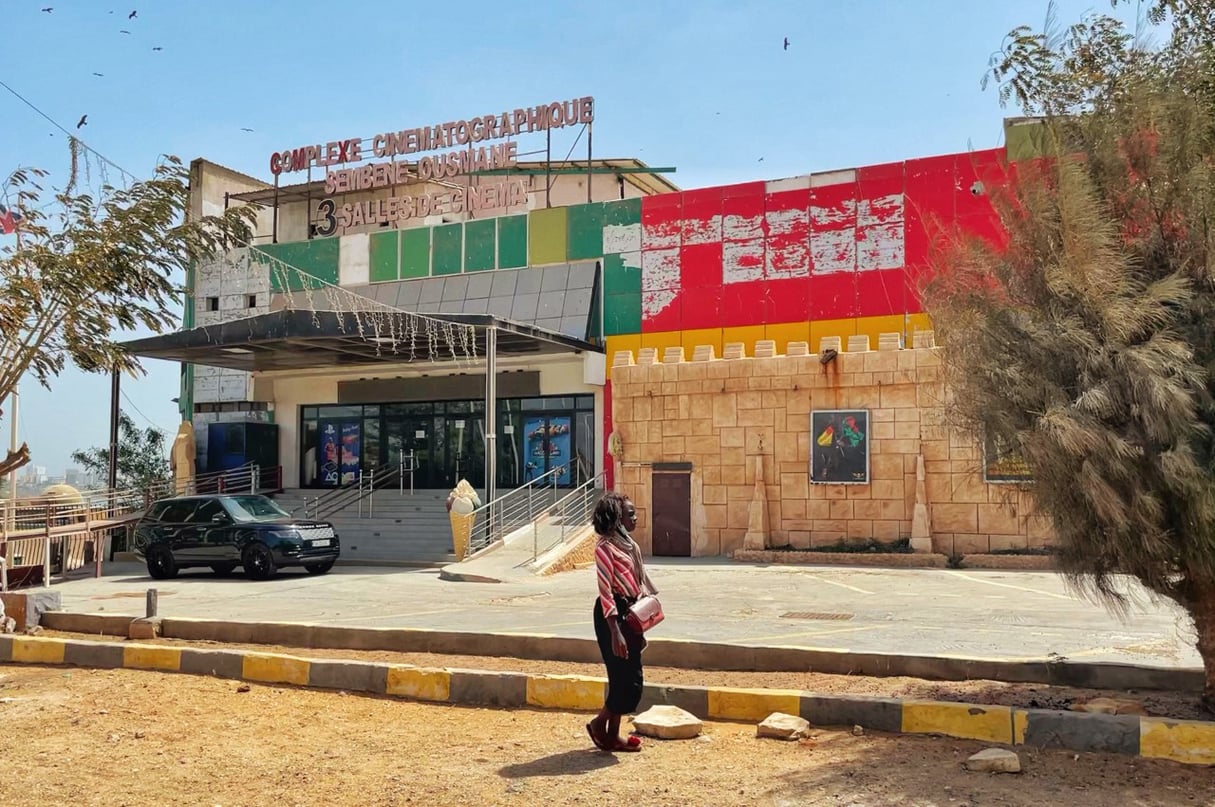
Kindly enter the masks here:
<path id="1" fill-rule="evenodd" d="M 1007 243 L 948 239 L 925 300 L 954 414 L 1024 458 L 1061 570 L 1179 603 L 1215 709 L 1215 2 L 1148 19 L 1158 46 L 1100 15 L 1008 35 L 989 77 L 1042 153 L 988 185 Z"/>

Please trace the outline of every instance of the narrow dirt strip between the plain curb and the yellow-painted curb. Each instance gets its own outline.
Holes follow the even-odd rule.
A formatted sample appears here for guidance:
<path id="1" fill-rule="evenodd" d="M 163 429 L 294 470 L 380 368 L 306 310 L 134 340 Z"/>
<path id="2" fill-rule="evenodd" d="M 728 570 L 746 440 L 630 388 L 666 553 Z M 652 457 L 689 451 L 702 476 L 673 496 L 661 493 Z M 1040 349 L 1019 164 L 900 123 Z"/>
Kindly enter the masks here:
<path id="1" fill-rule="evenodd" d="M 120 640 L 83 633 L 47 631 L 43 636 L 72 639 Z M 580 675 L 603 678 L 606 672 L 599 664 L 569 661 L 537 661 L 498 656 L 437 655 L 431 653 L 392 653 L 388 650 L 329 650 L 321 648 L 288 648 L 264 644 L 225 644 L 215 642 L 185 642 L 154 639 L 157 644 L 181 647 L 231 648 L 260 653 L 286 653 L 313 659 L 354 659 L 412 664 L 419 667 L 463 667 L 465 670 L 503 670 L 512 672 Z M 1128 692 L 1108 689 L 1074 689 L 1041 684 L 1008 684 L 999 681 L 925 681 L 923 678 L 876 678 L 866 676 L 831 676 L 818 672 L 718 672 L 645 667 L 645 679 L 654 683 L 689 684 L 696 687 L 758 687 L 769 689 L 803 689 L 819 694 L 854 694 L 920 700 L 946 700 L 989 706 L 1019 709 L 1068 709 L 1076 700 L 1096 696 L 1130 698 L 1143 705 L 1148 715 L 1175 719 L 1211 719 L 1199 702 L 1199 693 Z"/>

